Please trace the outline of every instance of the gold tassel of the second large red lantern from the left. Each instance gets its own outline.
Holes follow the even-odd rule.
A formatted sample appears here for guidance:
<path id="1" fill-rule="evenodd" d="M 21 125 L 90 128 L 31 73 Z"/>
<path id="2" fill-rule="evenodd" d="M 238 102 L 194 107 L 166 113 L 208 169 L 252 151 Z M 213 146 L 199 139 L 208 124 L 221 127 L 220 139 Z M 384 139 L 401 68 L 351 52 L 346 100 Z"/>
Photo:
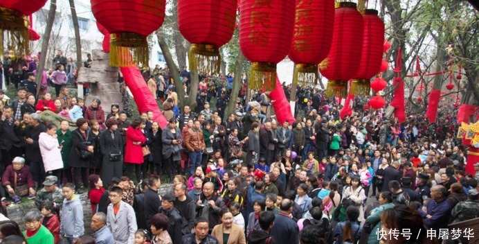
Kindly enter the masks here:
<path id="1" fill-rule="evenodd" d="M 144 35 L 113 33 L 110 37 L 110 65 L 112 67 L 131 67 L 138 63 L 148 66 L 150 60 L 148 42 Z M 130 51 L 132 51 L 131 55 Z"/>

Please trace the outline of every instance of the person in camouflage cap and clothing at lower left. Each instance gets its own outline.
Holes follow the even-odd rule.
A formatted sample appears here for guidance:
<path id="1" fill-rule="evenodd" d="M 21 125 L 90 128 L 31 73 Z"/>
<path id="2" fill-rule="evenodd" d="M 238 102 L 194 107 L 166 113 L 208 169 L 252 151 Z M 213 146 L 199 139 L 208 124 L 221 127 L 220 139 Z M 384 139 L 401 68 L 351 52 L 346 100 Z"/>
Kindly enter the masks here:
<path id="1" fill-rule="evenodd" d="M 53 205 L 60 209 L 63 203 L 62 189 L 57 186 L 58 178 L 54 175 L 48 175 L 43 182 L 44 187 L 37 191 L 35 195 L 35 205 L 38 209 L 42 207 L 45 201 L 53 202 Z M 40 209 L 41 210 L 41 209 Z"/>

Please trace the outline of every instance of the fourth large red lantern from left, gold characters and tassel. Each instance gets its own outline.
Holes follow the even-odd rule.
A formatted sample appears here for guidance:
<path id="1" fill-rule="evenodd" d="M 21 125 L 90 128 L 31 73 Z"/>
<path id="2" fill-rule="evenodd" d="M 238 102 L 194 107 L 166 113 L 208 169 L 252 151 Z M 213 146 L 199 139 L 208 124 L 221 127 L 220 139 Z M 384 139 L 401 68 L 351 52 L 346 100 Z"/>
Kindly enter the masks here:
<path id="1" fill-rule="evenodd" d="M 251 61 L 252 89 L 274 89 L 276 64 L 289 53 L 295 16 L 294 0 L 241 0 L 239 47 Z"/>

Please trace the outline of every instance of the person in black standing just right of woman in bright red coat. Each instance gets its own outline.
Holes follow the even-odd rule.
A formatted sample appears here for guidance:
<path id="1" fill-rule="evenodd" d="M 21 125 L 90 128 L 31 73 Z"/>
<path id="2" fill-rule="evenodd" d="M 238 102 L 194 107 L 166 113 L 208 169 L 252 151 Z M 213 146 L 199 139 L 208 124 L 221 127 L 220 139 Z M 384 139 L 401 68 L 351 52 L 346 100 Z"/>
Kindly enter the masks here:
<path id="1" fill-rule="evenodd" d="M 154 168 L 156 167 L 156 175 L 161 175 L 161 163 L 163 162 L 163 142 L 161 141 L 161 128 L 158 122 L 153 122 L 152 129 L 148 131 L 147 138 L 150 139 L 150 152 L 152 157 L 148 163 L 150 174 L 154 175 Z"/>

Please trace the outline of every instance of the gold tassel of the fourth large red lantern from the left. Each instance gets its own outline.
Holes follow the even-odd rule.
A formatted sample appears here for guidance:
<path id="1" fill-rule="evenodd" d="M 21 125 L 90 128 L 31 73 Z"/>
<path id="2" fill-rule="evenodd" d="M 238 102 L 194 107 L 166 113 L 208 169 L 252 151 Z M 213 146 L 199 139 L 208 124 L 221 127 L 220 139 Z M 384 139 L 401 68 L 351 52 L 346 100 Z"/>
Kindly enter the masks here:
<path id="1" fill-rule="evenodd" d="M 275 89 L 276 64 L 273 62 L 251 62 L 249 85 L 251 89 Z"/>

